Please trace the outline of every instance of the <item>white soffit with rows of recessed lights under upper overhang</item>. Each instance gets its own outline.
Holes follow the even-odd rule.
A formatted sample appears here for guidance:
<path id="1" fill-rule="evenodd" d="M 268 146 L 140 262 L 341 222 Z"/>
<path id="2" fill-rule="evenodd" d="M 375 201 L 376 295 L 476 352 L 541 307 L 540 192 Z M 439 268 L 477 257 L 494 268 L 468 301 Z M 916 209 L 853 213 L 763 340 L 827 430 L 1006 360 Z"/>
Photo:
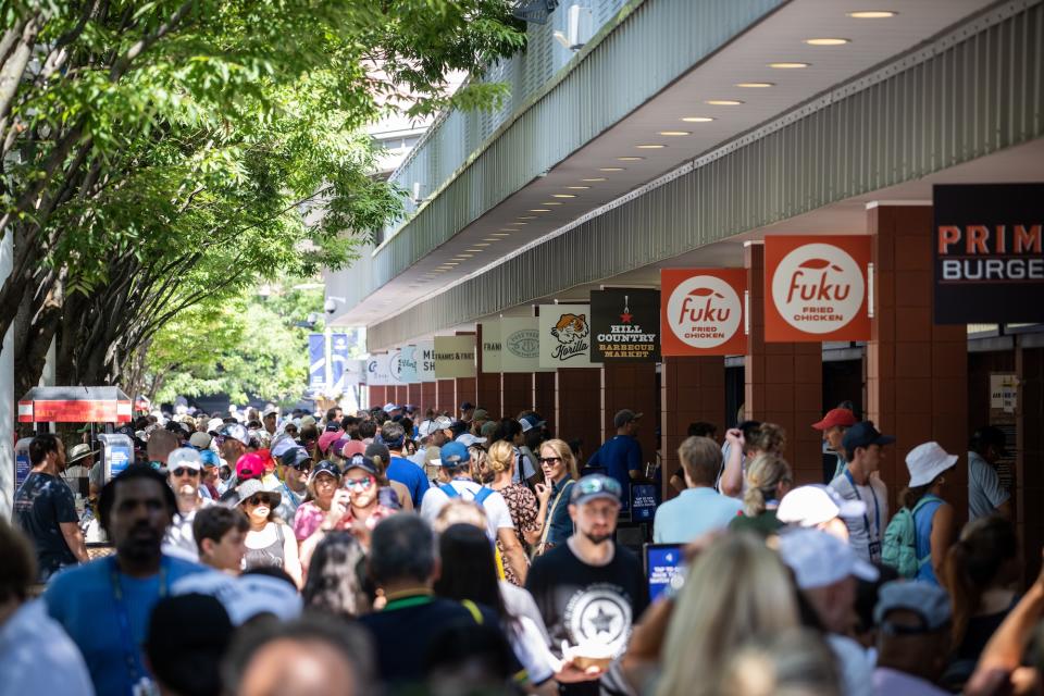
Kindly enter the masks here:
<path id="1" fill-rule="evenodd" d="M 333 323 L 351 326 L 384 321 L 407 304 L 430 298 L 480 268 L 497 263 L 585 213 L 625 197 L 642 184 L 913 49 L 991 4 L 992 0 L 793 0 Z M 896 15 L 850 16 L 868 10 L 890 10 Z M 811 46 L 809 39 L 847 42 Z M 773 69 L 769 66 L 772 63 L 807 63 L 808 67 Z M 771 86 L 738 86 L 749 83 Z M 743 103 L 707 103 L 716 100 Z M 683 121 L 689 117 L 713 121 Z M 664 132 L 688 135 L 660 135 Z M 646 149 L 639 145 L 666 147 Z M 621 161 L 621 157 L 644 159 Z M 622 171 L 601 171 L 606 167 Z M 605 181 L 583 181 L 593 178 Z M 570 188 L 580 186 L 589 188 Z M 452 270 L 436 270 L 455 257 L 458 264 Z"/>

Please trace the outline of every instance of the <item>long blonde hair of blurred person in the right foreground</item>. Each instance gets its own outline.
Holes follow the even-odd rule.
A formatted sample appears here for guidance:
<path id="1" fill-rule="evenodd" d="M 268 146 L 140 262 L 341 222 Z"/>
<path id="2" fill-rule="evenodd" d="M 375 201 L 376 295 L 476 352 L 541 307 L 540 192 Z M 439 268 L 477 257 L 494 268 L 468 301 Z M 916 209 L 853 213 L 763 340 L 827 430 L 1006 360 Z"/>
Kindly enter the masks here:
<path id="1" fill-rule="evenodd" d="M 749 534 L 724 536 L 700 554 L 675 602 L 657 696 L 714 694 L 711 675 L 742 646 L 799 625 L 790 572 Z"/>

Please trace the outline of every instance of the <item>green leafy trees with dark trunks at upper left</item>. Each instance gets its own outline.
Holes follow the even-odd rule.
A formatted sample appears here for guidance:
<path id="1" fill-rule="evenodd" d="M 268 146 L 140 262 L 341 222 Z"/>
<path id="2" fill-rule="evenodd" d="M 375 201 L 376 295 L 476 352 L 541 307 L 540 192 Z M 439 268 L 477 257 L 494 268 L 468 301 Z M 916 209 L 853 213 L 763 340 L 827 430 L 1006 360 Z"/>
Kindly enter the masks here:
<path id="1" fill-rule="evenodd" d="M 32 384 L 119 382 L 179 312 L 349 262 L 399 213 L 361 126 L 495 104 L 507 0 L 0 4 L 0 335 Z M 24 386 L 24 385 L 23 385 Z"/>

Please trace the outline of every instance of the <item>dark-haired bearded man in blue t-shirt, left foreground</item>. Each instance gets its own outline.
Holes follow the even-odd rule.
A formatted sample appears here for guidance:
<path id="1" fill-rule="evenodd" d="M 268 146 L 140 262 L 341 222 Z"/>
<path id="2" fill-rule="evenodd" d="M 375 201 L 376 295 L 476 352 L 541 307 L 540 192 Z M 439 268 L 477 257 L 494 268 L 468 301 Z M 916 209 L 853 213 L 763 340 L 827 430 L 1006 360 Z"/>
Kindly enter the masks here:
<path id="1" fill-rule="evenodd" d="M 177 501 L 151 467 L 134 464 L 105 484 L 98 509 L 115 556 L 55 575 L 44 601 L 83 654 L 97 693 L 153 693 L 141 652 L 152 607 L 182 577 L 214 571 L 160 550 Z"/>

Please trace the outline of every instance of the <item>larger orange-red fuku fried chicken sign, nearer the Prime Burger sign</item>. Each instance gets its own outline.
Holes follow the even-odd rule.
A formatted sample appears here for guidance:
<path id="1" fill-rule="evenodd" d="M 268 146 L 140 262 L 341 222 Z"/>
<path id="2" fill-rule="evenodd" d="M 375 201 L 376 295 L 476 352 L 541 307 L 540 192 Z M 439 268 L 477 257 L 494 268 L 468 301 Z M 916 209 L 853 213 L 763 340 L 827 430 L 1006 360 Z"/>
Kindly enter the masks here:
<path id="1" fill-rule="evenodd" d="M 765 238 L 765 339 L 869 340 L 870 237 Z"/>

